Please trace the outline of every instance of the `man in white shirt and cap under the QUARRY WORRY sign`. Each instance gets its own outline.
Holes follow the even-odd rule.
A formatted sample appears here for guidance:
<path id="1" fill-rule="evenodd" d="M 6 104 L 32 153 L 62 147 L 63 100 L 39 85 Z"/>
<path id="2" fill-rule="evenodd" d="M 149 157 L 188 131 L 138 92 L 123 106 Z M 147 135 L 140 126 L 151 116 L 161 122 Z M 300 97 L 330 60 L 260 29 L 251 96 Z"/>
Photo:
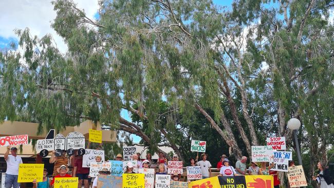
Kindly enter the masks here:
<path id="1" fill-rule="evenodd" d="M 9 155 L 9 151 L 11 155 Z M 20 183 L 17 183 L 18 177 L 18 166 L 23 163 L 20 156 L 16 155 L 17 148 L 7 146 L 7 151 L 4 155 L 4 158 L 7 163 L 7 170 L 6 170 L 6 180 L 5 180 L 5 187 L 12 187 L 18 188 L 20 187 Z"/>

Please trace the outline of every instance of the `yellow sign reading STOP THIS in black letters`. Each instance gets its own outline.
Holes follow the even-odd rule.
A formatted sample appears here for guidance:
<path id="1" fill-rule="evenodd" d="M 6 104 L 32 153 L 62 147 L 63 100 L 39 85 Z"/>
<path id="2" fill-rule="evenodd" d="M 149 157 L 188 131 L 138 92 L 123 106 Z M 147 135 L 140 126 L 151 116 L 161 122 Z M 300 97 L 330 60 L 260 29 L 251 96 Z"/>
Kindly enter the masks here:
<path id="1" fill-rule="evenodd" d="M 144 188 L 144 174 L 123 174 L 123 188 Z"/>

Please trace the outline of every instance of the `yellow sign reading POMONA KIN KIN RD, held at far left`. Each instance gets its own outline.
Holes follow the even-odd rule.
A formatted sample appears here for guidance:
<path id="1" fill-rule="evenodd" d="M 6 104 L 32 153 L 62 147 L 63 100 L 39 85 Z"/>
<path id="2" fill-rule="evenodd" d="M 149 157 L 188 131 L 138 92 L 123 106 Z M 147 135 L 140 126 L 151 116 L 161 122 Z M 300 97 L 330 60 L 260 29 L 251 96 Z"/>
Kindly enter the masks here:
<path id="1" fill-rule="evenodd" d="M 18 166 L 17 182 L 43 181 L 44 164 L 20 164 Z"/>

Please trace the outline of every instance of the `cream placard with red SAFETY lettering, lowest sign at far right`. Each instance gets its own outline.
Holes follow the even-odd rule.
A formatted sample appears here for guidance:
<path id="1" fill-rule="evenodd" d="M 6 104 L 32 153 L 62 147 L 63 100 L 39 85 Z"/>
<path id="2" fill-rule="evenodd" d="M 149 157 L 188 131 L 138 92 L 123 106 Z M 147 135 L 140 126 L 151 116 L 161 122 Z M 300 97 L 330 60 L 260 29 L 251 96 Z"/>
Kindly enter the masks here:
<path id="1" fill-rule="evenodd" d="M 302 165 L 288 167 L 287 175 L 290 187 L 307 186 L 307 181 Z"/>

